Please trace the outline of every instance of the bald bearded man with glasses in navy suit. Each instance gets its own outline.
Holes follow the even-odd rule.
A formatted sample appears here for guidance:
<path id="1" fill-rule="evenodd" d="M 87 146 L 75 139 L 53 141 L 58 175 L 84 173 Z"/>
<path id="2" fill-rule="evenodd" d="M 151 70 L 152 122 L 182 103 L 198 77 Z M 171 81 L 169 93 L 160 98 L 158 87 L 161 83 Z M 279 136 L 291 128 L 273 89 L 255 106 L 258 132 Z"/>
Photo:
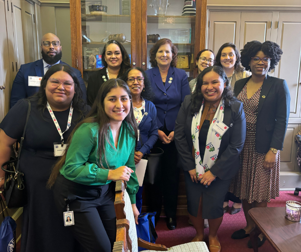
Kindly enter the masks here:
<path id="1" fill-rule="evenodd" d="M 66 64 L 62 62 L 61 44 L 59 38 L 53 33 L 46 33 L 41 39 L 42 59 L 23 64 L 13 82 L 10 107 L 15 105 L 18 100 L 30 97 L 37 93 L 40 86 L 40 80 L 46 74 L 48 69 L 55 64 Z M 73 67 L 72 67 L 73 68 Z M 87 102 L 87 89 L 84 85 L 81 73 L 73 68 L 79 80 L 82 90 L 82 99 Z"/>

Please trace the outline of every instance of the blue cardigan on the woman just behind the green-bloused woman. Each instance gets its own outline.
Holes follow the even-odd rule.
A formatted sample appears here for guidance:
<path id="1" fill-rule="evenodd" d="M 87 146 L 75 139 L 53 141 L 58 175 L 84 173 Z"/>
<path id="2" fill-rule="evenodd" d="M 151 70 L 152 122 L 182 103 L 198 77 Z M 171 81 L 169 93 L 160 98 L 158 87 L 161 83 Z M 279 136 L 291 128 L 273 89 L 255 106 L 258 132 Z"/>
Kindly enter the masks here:
<path id="1" fill-rule="evenodd" d="M 145 101 L 144 116 L 138 126 L 140 130 L 140 137 L 137 143 L 136 150 L 145 153 L 150 153 L 150 149 L 153 148 L 158 140 L 158 126 L 157 126 L 157 109 L 154 103 Z M 143 146 L 141 147 L 141 139 Z"/>

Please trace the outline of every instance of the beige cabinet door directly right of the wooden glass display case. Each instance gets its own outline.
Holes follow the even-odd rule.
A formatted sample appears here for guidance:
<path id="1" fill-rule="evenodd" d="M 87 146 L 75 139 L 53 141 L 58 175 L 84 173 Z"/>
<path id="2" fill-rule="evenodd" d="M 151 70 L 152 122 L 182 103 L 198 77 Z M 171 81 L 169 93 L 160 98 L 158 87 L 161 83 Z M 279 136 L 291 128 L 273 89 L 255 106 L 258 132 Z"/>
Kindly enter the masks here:
<path id="1" fill-rule="evenodd" d="M 239 47 L 241 12 L 211 11 L 209 16 L 208 48 L 215 54 L 221 45 L 232 42 Z"/>

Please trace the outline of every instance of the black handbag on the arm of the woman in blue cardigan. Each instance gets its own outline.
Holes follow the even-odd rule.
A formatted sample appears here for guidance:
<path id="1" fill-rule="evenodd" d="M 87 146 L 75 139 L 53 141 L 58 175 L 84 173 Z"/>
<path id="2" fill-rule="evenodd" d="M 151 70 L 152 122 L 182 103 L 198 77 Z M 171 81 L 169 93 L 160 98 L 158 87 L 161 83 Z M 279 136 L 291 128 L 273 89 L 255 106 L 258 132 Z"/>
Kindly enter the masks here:
<path id="1" fill-rule="evenodd" d="M 143 141 L 140 136 L 141 147 L 143 146 Z M 162 162 L 161 158 L 164 151 L 159 147 L 154 147 L 150 150 L 150 153 L 144 155 L 142 158 L 147 159 L 146 171 L 144 174 L 143 184 L 154 185 L 158 178 L 161 176 Z"/>

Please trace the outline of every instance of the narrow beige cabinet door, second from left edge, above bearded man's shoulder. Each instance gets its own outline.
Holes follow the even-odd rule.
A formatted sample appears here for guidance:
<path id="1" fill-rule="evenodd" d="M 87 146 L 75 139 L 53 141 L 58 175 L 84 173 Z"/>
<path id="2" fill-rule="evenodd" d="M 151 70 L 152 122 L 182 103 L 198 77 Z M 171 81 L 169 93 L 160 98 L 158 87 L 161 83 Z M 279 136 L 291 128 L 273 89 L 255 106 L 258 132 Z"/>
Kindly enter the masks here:
<path id="1" fill-rule="evenodd" d="M 20 65 L 25 63 L 24 56 L 24 39 L 23 39 L 23 26 L 22 26 L 22 5 L 21 0 L 12 0 L 12 21 L 13 21 L 13 34 L 14 34 L 14 51 L 15 63 L 17 71 Z M 14 77 L 16 72 L 14 72 Z"/>

